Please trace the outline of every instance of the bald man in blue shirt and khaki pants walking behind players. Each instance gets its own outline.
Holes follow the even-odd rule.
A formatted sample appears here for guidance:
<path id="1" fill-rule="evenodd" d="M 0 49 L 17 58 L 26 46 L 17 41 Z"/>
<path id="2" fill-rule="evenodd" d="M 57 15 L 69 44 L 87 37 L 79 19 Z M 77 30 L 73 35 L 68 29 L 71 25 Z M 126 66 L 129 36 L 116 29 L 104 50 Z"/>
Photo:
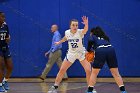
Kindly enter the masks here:
<path id="1" fill-rule="evenodd" d="M 51 48 L 48 52 L 45 53 L 45 56 L 49 55 L 49 60 L 48 63 L 46 64 L 46 67 L 44 69 L 44 71 L 42 72 L 42 75 L 40 76 L 41 80 L 45 80 L 48 72 L 51 70 L 52 66 L 54 65 L 54 63 L 56 62 L 58 67 L 61 67 L 62 64 L 62 44 L 60 45 L 55 45 L 55 42 L 58 42 L 59 40 L 61 40 L 61 35 L 58 31 L 58 26 L 57 25 L 52 25 L 51 27 L 51 32 L 54 33 L 53 38 L 52 38 L 52 44 L 51 44 Z M 67 79 L 68 76 L 67 74 L 64 75 L 64 80 Z"/>

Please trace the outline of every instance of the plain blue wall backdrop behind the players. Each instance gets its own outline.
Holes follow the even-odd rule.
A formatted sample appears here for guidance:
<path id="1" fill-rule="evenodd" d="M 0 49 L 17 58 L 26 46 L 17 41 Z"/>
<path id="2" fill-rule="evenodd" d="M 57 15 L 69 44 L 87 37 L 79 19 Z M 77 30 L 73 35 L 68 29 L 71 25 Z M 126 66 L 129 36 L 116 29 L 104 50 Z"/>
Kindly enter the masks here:
<path id="1" fill-rule="evenodd" d="M 5 12 L 11 33 L 11 52 L 14 71 L 12 77 L 37 77 L 44 69 L 50 49 L 50 26 L 59 25 L 59 31 L 69 29 L 69 21 L 89 17 L 89 28 L 101 26 L 116 49 L 122 76 L 140 76 L 140 0 L 1 0 L 0 11 Z M 89 30 L 90 30 L 89 29 Z M 89 32 L 85 36 L 85 46 Z M 63 44 L 63 58 L 67 43 Z M 53 66 L 48 76 L 56 76 L 58 67 Z M 76 61 L 68 69 L 70 77 L 85 76 Z M 105 65 L 100 76 L 110 76 Z"/>

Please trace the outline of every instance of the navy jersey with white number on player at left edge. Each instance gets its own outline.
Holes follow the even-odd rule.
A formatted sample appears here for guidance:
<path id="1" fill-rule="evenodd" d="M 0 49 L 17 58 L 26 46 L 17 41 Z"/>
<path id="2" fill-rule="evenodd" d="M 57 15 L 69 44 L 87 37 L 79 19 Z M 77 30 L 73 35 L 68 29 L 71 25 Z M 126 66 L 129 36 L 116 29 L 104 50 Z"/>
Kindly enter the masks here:
<path id="1" fill-rule="evenodd" d="M 7 46 L 6 38 L 9 37 L 9 29 L 7 24 L 4 22 L 0 27 L 0 47 Z"/>

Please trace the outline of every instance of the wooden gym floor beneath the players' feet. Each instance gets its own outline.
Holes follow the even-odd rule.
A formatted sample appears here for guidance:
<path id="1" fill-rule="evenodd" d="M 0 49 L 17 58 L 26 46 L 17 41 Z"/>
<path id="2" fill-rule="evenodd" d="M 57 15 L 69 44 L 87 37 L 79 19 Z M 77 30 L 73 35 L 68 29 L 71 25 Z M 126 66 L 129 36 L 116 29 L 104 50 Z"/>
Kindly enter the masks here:
<path id="1" fill-rule="evenodd" d="M 128 93 L 140 93 L 140 78 L 123 78 Z M 54 78 L 42 82 L 39 78 L 12 78 L 9 80 L 8 93 L 47 93 L 53 85 Z M 120 93 L 114 79 L 99 78 L 95 86 L 97 93 Z M 85 78 L 69 78 L 63 81 L 58 93 L 86 93 Z"/>

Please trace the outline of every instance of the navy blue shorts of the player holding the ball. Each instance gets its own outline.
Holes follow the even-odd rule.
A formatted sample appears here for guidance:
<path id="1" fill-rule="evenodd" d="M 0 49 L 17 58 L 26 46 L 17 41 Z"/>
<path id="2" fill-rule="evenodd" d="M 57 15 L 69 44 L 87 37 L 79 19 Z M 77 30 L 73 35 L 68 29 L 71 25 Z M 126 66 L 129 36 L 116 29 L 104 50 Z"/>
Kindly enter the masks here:
<path id="1" fill-rule="evenodd" d="M 118 62 L 114 48 L 102 47 L 95 50 L 95 58 L 92 64 L 93 68 L 102 68 L 107 63 L 109 68 L 117 68 Z"/>

